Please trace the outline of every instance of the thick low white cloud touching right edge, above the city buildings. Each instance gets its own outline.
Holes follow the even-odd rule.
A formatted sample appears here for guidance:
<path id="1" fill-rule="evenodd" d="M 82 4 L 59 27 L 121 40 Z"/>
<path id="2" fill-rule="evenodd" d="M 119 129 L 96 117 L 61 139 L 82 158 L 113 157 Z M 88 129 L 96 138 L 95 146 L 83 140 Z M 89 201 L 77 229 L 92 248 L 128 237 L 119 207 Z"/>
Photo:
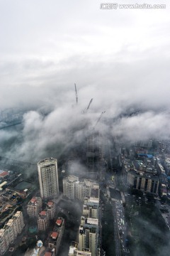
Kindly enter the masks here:
<path id="1" fill-rule="evenodd" d="M 113 136 L 133 143 L 147 139 L 169 139 L 169 112 L 143 112 L 113 123 Z"/>

